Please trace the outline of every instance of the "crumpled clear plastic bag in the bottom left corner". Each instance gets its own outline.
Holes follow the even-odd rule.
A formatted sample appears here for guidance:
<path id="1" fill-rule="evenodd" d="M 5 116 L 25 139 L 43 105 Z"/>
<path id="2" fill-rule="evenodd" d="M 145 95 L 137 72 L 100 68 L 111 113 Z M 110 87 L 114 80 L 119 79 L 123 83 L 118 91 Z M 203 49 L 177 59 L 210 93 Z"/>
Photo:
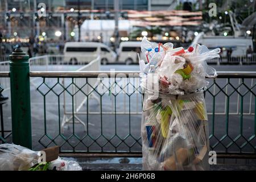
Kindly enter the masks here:
<path id="1" fill-rule="evenodd" d="M 28 170 L 38 163 L 40 152 L 16 144 L 0 144 L 0 171 Z"/>

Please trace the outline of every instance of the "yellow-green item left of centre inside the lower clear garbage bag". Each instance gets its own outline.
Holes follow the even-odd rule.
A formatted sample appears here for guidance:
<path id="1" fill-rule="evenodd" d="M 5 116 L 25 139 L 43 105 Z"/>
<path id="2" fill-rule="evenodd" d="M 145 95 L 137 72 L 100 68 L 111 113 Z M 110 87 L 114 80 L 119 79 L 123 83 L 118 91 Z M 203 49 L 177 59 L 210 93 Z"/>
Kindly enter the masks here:
<path id="1" fill-rule="evenodd" d="M 168 135 L 170 116 L 172 115 L 172 110 L 169 106 L 166 106 L 165 109 L 160 110 L 161 114 L 161 131 L 164 138 Z"/>

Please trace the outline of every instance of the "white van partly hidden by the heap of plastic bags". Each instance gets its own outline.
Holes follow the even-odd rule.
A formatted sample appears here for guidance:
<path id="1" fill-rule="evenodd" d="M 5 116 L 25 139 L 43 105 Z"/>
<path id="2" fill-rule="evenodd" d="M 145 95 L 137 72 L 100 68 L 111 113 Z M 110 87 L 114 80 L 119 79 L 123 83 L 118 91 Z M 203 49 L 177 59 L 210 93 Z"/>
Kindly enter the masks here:
<path id="1" fill-rule="evenodd" d="M 138 63 L 137 53 L 141 56 L 141 42 L 121 42 L 118 49 L 118 63 Z"/>

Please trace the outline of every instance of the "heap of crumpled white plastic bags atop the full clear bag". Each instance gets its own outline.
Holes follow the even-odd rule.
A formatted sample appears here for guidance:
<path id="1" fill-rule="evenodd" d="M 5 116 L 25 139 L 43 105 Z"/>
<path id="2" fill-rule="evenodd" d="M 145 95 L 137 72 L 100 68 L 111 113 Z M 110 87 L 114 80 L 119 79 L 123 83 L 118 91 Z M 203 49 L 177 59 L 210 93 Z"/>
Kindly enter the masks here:
<path id="1" fill-rule="evenodd" d="M 217 76 L 216 70 L 207 65 L 207 60 L 220 57 L 220 48 L 209 51 L 207 47 L 199 44 L 191 49 L 173 48 L 173 45 L 169 44 L 171 43 L 159 43 L 157 47 L 157 44 L 150 43 L 146 37 L 142 39 L 142 53 L 150 58 L 147 59 L 147 64 L 143 60 L 139 61 L 142 88 L 151 92 L 189 94 L 203 90 L 209 84 L 205 77 Z M 156 82 L 158 85 L 151 83 L 151 88 L 148 87 L 148 76 L 152 73 L 150 65 L 155 66 L 154 79 L 159 80 Z"/>

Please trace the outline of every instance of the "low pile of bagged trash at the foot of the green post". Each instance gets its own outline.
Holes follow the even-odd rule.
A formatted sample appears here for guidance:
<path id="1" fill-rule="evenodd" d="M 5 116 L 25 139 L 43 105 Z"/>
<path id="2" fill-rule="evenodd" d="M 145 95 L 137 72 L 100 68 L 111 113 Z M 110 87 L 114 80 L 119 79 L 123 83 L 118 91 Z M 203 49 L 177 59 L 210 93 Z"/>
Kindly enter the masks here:
<path id="1" fill-rule="evenodd" d="M 0 144 L 0 171 L 81 171 L 79 163 L 57 158 L 39 163 L 39 151 L 32 151 L 16 144 Z"/>

